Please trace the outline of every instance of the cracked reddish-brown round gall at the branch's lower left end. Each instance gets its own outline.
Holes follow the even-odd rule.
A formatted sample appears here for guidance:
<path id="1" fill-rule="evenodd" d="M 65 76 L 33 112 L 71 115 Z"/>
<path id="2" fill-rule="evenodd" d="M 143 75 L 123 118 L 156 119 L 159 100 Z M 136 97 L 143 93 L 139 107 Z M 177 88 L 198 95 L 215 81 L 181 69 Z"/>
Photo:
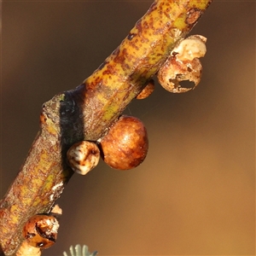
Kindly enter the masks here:
<path id="1" fill-rule="evenodd" d="M 29 246 L 45 249 L 55 244 L 59 226 L 54 216 L 38 214 L 26 222 L 22 235 Z"/>

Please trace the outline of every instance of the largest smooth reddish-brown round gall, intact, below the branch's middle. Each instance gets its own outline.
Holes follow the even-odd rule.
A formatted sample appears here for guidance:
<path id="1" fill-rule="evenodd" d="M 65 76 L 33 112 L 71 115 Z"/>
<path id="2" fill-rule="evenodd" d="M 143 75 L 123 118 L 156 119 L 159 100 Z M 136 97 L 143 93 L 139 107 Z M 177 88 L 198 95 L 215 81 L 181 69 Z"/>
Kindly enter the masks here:
<path id="1" fill-rule="evenodd" d="M 148 153 L 148 134 L 143 122 L 121 116 L 100 140 L 102 159 L 114 169 L 129 170 L 140 165 Z"/>

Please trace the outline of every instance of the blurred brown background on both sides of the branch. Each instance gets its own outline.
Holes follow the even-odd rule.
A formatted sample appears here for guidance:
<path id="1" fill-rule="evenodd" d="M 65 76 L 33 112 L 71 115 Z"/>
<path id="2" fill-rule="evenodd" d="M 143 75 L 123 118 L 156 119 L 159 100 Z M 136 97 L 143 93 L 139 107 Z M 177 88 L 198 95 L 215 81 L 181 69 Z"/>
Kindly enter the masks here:
<path id="1" fill-rule="evenodd" d="M 73 89 L 125 38 L 152 1 L 3 2 L 1 197 L 38 131 L 42 104 Z M 157 86 L 125 113 L 149 152 L 118 172 L 74 175 L 58 203 L 62 255 L 255 254 L 255 2 L 215 1 L 193 33 L 207 37 L 201 84 Z"/>

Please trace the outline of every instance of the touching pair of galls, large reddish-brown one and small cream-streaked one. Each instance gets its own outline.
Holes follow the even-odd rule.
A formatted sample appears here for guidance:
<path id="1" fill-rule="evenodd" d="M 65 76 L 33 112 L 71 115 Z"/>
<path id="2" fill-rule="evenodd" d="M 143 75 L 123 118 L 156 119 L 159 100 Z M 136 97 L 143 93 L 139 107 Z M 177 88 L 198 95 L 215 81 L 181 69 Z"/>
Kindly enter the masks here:
<path id="1" fill-rule="evenodd" d="M 82 141 L 67 151 L 67 162 L 74 172 L 86 174 L 99 162 L 129 170 L 140 165 L 148 152 L 148 135 L 142 121 L 131 116 L 120 116 L 108 133 L 96 143 Z"/>

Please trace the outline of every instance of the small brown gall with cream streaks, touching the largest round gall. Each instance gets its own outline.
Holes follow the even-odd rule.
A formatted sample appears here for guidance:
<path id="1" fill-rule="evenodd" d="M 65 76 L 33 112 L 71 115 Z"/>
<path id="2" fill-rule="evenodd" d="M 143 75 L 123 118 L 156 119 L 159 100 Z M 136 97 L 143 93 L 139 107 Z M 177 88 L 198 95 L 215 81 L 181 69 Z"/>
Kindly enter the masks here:
<path id="1" fill-rule="evenodd" d="M 73 172 L 85 175 L 90 172 L 100 160 L 100 150 L 96 143 L 82 141 L 73 144 L 67 150 L 67 163 Z"/>

